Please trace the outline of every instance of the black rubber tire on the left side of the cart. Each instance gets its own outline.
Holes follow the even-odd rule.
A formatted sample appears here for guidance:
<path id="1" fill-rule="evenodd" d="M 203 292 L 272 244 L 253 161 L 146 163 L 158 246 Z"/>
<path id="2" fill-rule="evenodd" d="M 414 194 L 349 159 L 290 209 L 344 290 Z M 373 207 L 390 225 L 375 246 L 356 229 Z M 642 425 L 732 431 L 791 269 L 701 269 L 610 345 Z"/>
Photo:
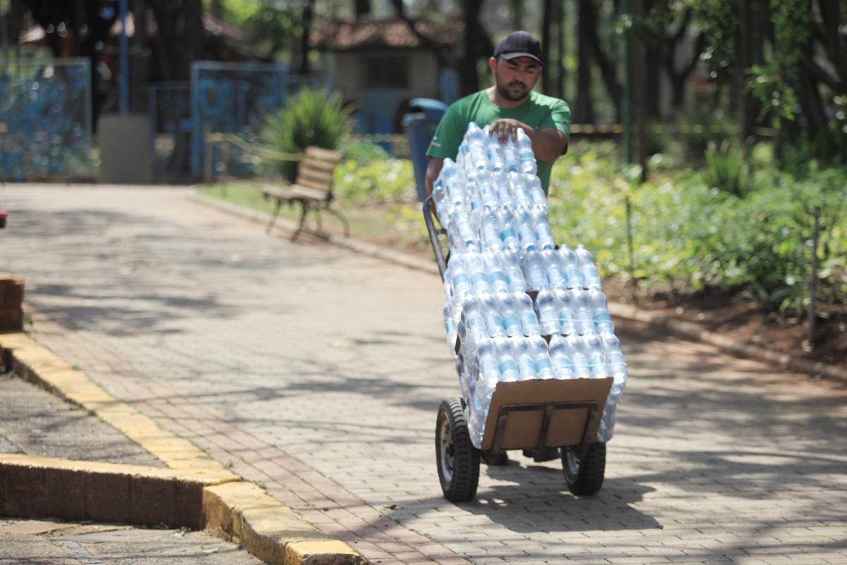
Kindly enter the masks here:
<path id="1" fill-rule="evenodd" d="M 479 485 L 479 451 L 471 443 L 462 401 L 441 402 L 435 420 L 435 463 L 444 497 L 472 501 Z"/>

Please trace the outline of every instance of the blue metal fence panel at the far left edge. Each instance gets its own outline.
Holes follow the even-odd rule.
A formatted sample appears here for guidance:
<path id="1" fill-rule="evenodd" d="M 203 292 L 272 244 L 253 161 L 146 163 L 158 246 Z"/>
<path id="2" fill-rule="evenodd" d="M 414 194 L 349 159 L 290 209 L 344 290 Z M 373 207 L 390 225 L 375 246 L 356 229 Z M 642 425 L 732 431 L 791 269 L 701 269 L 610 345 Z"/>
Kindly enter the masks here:
<path id="1" fill-rule="evenodd" d="M 91 177 L 89 60 L 0 66 L 0 180 Z"/>

